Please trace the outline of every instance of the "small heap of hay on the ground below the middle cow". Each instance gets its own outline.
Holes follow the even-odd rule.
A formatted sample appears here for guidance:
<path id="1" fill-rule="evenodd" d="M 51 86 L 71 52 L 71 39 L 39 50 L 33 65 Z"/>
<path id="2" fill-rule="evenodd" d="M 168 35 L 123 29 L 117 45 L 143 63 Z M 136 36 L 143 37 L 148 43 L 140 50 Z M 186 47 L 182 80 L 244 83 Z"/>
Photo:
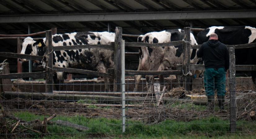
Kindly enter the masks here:
<path id="1" fill-rule="evenodd" d="M 183 87 L 173 88 L 167 92 L 164 96 L 169 96 L 171 98 L 185 98 L 185 95 L 190 95 L 189 91 L 186 91 Z"/>

